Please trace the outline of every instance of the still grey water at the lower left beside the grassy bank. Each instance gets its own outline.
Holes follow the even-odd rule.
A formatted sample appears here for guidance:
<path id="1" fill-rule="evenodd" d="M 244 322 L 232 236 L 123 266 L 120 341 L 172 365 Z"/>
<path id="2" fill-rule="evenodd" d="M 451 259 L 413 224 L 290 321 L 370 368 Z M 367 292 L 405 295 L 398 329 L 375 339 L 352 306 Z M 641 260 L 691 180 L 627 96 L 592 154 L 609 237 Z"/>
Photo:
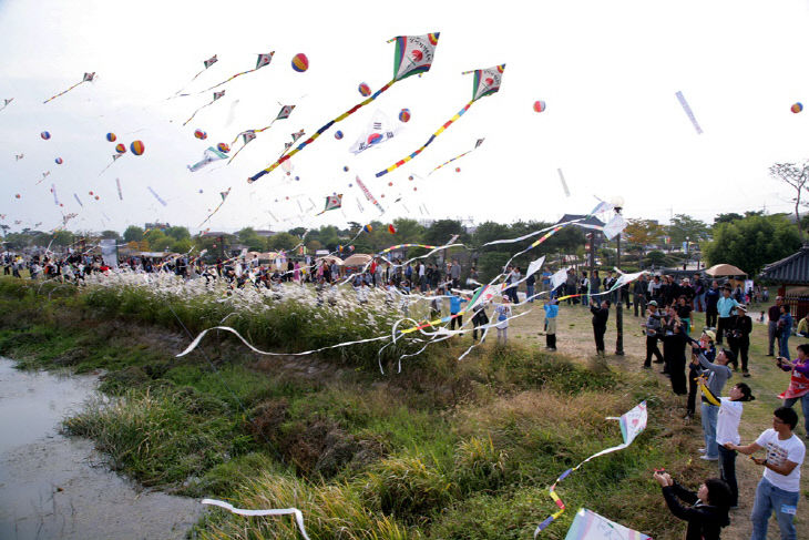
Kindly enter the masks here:
<path id="1" fill-rule="evenodd" d="M 0 358 L 0 538 L 184 538 L 198 501 L 139 490 L 93 444 L 59 435 L 96 377 L 19 371 Z"/>

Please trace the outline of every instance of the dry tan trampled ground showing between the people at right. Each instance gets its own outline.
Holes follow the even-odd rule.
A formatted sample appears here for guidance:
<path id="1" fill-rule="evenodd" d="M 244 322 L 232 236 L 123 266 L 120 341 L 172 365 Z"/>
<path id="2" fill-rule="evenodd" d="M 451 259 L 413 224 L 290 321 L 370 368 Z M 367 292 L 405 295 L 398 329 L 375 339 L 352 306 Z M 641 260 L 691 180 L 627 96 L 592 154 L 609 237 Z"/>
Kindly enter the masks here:
<path id="1" fill-rule="evenodd" d="M 532 309 L 528 315 L 511 322 L 509 329 L 509 339 L 518 339 L 526 344 L 533 344 L 544 348 L 545 336 L 541 335 L 544 326 L 544 310 L 542 302 L 535 302 L 533 309 L 531 304 L 529 307 L 515 308 L 515 315 Z M 743 378 L 741 373 L 735 373 L 734 377 L 726 385 L 726 390 L 730 385 L 745 381 L 752 388 L 756 400 L 745 405 L 745 412 L 739 428 L 743 445 L 749 444 L 758 437 L 758 435 L 771 427 L 772 410 L 780 406 L 777 395 L 786 390 L 789 385 L 789 374 L 780 371 L 776 368 L 774 358 L 766 356 L 767 354 L 767 324 L 759 323 L 758 316 L 761 310 L 766 310 L 769 305 L 750 306 L 749 315 L 754 319 L 754 329 L 750 336 L 750 360 L 749 370 L 751 377 Z M 606 364 L 618 370 L 627 371 L 645 371 L 648 377 L 657 377 L 665 380 L 662 375 L 660 365 L 653 364 L 653 369 L 645 370 L 642 368 L 646 356 L 646 339 L 641 329 L 641 323 L 644 318 L 635 317 L 634 309 L 623 309 L 624 322 L 624 356 L 616 356 L 616 309 L 611 308 L 610 319 L 607 323 L 607 332 L 604 337 L 606 344 Z M 567 305 L 566 302 L 560 306 L 560 314 L 556 329 L 556 348 L 559 354 L 563 354 L 573 359 L 581 359 L 583 363 L 597 361 L 595 356 L 595 342 L 593 338 L 592 315 L 588 309 L 581 305 Z M 705 326 L 705 315 L 696 313 L 693 320 L 695 334 L 700 334 Z M 789 348 L 795 356 L 795 347 L 807 339 L 801 337 L 792 337 L 789 340 Z M 727 346 L 727 344 L 726 344 Z M 777 349 L 777 347 L 776 347 Z M 777 350 L 776 350 L 777 353 Z M 809 439 L 803 429 L 803 415 L 800 406 L 797 406 L 798 427 L 796 434 L 803 438 L 809 446 Z M 685 397 L 683 398 L 683 414 L 685 415 Z M 685 420 L 684 420 L 685 421 Z M 696 422 L 699 422 L 699 407 L 697 407 Z M 699 460 L 698 448 L 703 447 L 702 438 L 694 440 L 694 466 L 705 470 L 706 478 L 709 476 L 719 476 L 716 463 Z M 730 514 L 730 526 L 723 531 L 723 538 L 728 539 L 746 539 L 749 538 L 750 511 L 752 510 L 752 501 L 756 492 L 756 486 L 761 477 L 761 467 L 755 465 L 747 457 L 739 455 L 736 461 L 736 473 L 739 485 L 739 508 L 733 510 Z M 801 499 L 798 503 L 798 513 L 796 516 L 796 528 L 799 539 L 809 539 L 809 469 L 806 461 L 802 466 L 801 475 Z M 694 489 L 696 490 L 696 486 Z M 675 519 L 675 518 L 672 518 Z M 780 538 L 778 532 L 778 523 L 775 518 L 770 520 L 768 530 L 768 539 Z"/>

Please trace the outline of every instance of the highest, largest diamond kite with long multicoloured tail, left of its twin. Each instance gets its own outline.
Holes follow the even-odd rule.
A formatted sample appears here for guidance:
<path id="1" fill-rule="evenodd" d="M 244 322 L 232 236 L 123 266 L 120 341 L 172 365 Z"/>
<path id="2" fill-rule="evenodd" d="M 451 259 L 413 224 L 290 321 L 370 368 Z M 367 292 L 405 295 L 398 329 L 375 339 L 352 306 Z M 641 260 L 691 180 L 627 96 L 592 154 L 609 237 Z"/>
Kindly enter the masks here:
<path id="1" fill-rule="evenodd" d="M 400 35 L 390 40 L 396 41 L 396 53 L 393 57 L 393 79 L 391 79 L 390 82 L 377 90 L 366 100 L 357 103 L 336 119 L 327 122 L 324 126 L 317 130 L 314 135 L 300 143 L 291 152 L 281 155 L 275 163 L 270 164 L 267 169 L 259 171 L 258 173 L 250 176 L 248 179 L 248 182 L 253 183 L 265 174 L 272 173 L 278 165 L 281 164 L 281 162 L 289 160 L 293 155 L 300 152 L 336 123 L 344 121 L 346 118 L 350 116 L 362 106 L 376 100 L 382 92 L 388 90 L 396 82 L 401 81 L 402 79 L 407 79 L 411 75 L 427 73 L 432 65 L 432 59 L 436 54 L 436 45 L 438 45 L 438 37 L 439 32 L 436 32 L 424 35 Z"/>

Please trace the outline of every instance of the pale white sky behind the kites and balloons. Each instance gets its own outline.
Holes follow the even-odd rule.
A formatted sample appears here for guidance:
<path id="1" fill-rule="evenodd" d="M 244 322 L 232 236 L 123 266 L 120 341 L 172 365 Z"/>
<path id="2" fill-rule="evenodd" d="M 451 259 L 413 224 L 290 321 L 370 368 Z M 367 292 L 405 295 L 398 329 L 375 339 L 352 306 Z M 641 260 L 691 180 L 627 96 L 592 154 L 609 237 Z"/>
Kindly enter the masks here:
<path id="1" fill-rule="evenodd" d="M 809 106 L 808 23 L 806 0 L 0 0 L 0 106 L 13 98 L 0 111 L 0 223 L 51 230 L 68 213 L 78 214 L 68 223 L 73 231 L 154 221 L 192 232 L 397 217 L 552 222 L 616 196 L 627 217 L 662 223 L 680 213 L 711 223 L 725 212 L 789 212 L 792 194 L 768 169 L 809 157 L 809 109 L 790 111 L 796 102 Z M 313 134 L 362 101 L 360 83 L 377 90 L 390 81 L 389 39 L 428 32 L 440 32 L 428 73 L 397 82 L 332 126 L 289 160 L 289 176 L 278 169 L 247 183 L 291 133 Z M 269 51 L 268 67 L 217 88 L 225 96 L 182 125 L 212 100 L 213 91 L 203 90 Z M 297 53 L 308 57 L 304 73 L 290 67 Z M 213 54 L 219 61 L 187 86 L 193 95 L 167 100 Z M 500 63 L 506 65 L 498 93 L 477 101 L 418 157 L 375 177 L 469 102 L 472 75 L 463 71 Z M 42 103 L 93 71 L 93 83 Z M 546 104 L 542 113 L 532 109 L 537 100 Z M 206 147 L 266 126 L 281 104 L 296 105 L 289 119 L 232 164 L 187 170 Z M 407 123 L 398 121 L 403 108 Z M 397 126 L 396 136 L 352 154 L 377 111 Z M 207 140 L 195 139 L 196 129 Z M 114 153 L 107 132 L 127 147 L 142 141 L 144 154 L 127 152 L 102 174 Z M 483 137 L 474 152 L 428 176 Z M 357 176 L 385 214 L 366 201 Z M 342 208 L 315 215 L 332 193 L 344 194 Z"/>

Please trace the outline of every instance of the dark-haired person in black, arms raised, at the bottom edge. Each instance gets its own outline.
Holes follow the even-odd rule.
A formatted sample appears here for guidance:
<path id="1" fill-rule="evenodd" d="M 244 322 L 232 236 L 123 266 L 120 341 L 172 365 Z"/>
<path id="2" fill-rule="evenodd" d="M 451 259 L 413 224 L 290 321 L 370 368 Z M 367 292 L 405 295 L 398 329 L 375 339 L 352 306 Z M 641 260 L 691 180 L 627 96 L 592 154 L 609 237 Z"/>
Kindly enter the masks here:
<path id="1" fill-rule="evenodd" d="M 668 510 L 688 522 L 685 540 L 719 540 L 721 529 L 730 524 L 728 500 L 730 489 L 720 478 L 708 478 L 697 492 L 688 491 L 665 471 L 655 471 L 654 479 L 663 488 Z M 680 503 L 692 505 L 685 507 Z"/>

